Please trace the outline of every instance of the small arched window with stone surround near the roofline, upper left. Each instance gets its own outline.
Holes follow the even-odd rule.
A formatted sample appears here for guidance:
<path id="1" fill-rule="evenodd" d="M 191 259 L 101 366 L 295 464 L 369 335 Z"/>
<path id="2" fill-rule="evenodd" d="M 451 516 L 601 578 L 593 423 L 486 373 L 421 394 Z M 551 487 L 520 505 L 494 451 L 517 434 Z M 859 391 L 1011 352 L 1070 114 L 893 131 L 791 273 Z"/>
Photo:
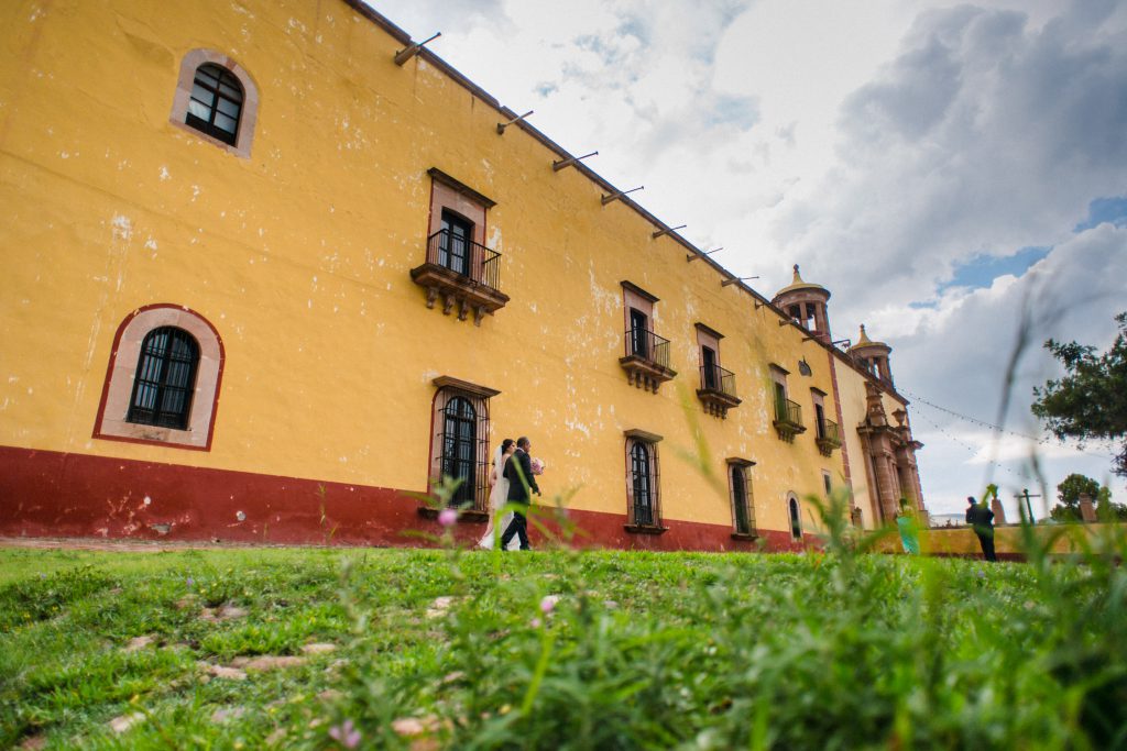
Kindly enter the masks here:
<path id="1" fill-rule="evenodd" d="M 214 50 L 184 55 L 169 123 L 249 159 L 257 117 L 258 87 L 239 63 Z"/>

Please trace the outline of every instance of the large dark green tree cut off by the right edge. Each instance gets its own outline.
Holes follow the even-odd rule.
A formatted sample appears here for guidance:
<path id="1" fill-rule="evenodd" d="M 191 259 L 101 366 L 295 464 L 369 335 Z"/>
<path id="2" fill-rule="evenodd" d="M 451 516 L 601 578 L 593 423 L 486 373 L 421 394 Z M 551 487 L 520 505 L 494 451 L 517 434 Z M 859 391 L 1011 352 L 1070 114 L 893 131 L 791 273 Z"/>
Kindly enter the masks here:
<path id="1" fill-rule="evenodd" d="M 1067 375 L 1033 387 L 1033 414 L 1057 438 L 1121 441 L 1112 472 L 1127 477 L 1127 313 L 1116 316 L 1119 333 L 1111 348 L 1049 339 L 1045 349 L 1064 364 Z"/>

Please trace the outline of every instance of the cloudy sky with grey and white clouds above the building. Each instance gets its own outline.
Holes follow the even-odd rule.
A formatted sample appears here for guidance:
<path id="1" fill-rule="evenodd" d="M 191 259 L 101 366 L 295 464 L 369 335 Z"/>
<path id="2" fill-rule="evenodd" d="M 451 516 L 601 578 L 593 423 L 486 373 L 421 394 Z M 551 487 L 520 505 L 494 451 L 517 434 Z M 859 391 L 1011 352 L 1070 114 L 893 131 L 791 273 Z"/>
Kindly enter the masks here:
<path id="1" fill-rule="evenodd" d="M 767 297 L 828 287 L 893 347 L 933 512 L 994 481 L 1012 519 L 1035 466 L 1127 502 L 1029 413 L 1041 343 L 1127 310 L 1127 0 L 372 5 Z"/>

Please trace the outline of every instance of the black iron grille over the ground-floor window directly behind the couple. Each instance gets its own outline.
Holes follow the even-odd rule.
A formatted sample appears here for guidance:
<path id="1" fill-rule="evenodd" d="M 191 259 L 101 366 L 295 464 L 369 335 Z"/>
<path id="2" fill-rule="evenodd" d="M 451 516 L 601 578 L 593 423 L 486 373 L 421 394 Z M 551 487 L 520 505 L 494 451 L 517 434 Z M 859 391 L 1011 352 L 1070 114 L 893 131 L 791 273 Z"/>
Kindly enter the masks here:
<path id="1" fill-rule="evenodd" d="M 440 405 L 438 472 L 460 481 L 450 506 L 486 510 L 489 497 L 489 405 L 473 395 L 450 395 Z"/>

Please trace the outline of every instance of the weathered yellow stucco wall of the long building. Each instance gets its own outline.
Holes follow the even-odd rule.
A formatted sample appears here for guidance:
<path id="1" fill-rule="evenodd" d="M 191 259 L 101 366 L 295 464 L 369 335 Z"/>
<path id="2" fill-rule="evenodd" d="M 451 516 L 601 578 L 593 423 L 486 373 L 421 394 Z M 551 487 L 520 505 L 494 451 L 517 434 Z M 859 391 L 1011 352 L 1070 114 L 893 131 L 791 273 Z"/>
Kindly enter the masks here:
<path id="1" fill-rule="evenodd" d="M 17 1 L 0 7 L 0 442 L 424 490 L 431 382 L 449 375 L 502 392 L 495 441 L 530 435 L 545 491 L 580 488 L 575 508 L 624 511 L 632 428 L 664 436 L 668 520 L 731 522 L 727 491 L 677 457 L 693 422 L 725 489 L 726 457 L 757 463 L 761 527 L 787 529 L 789 492 L 822 494 L 822 471 L 842 475 L 841 452 L 820 456 L 813 429 L 788 444 L 771 427 L 771 363 L 791 372 L 808 426 L 810 387 L 834 414 L 817 343 L 686 263 L 676 241 L 653 240 L 636 211 L 603 207 L 584 175 L 553 172 L 557 154 L 530 134 L 499 136 L 497 110 L 425 60 L 396 66 L 402 45 L 344 2 Z M 250 159 L 168 122 L 197 47 L 258 87 Z M 497 202 L 486 244 L 512 301 L 480 328 L 428 310 L 409 276 L 432 167 Z M 618 363 L 622 280 L 660 298 L 655 331 L 678 376 L 657 395 Z M 153 303 L 187 305 L 223 338 L 211 452 L 90 437 L 114 332 Z M 744 400 L 727 420 L 694 394 L 696 322 L 726 337 L 720 363 Z M 851 453 L 861 384 L 842 381 Z M 863 468 L 853 474 L 858 489 Z"/>

